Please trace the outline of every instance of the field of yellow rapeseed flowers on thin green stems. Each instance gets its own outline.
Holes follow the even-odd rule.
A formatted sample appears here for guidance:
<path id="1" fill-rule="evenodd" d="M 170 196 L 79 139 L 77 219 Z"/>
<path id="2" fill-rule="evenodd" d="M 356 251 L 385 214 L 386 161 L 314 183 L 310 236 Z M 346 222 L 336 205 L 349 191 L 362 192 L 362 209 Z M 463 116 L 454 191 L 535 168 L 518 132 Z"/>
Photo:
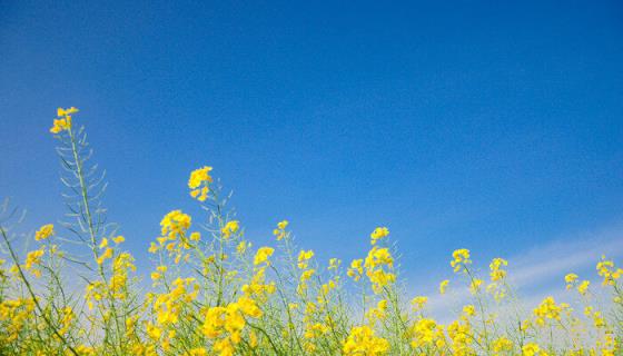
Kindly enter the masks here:
<path id="1" fill-rule="evenodd" d="M 435 296 L 407 295 L 387 227 L 362 258 L 327 265 L 297 247 L 287 220 L 275 220 L 274 244 L 255 246 L 208 166 L 180 197 L 206 216 L 166 212 L 145 246 L 152 269 L 138 271 L 107 221 L 77 112 L 58 109 L 50 129 L 66 221 L 24 240 L 19 216 L 2 209 L 0 355 L 622 355 L 623 269 L 606 257 L 595 261 L 601 285 L 561 276 L 568 304 L 543 296 L 520 307 L 508 261 L 473 261 L 464 248 Z M 453 319 L 436 319 L 429 298 L 459 288 L 468 293 Z"/>

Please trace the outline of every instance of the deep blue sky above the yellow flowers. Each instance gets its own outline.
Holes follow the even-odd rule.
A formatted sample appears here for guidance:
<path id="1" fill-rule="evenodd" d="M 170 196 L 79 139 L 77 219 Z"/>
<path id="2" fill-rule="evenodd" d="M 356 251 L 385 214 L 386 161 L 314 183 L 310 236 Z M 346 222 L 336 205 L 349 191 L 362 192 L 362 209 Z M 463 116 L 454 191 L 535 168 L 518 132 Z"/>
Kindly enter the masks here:
<path id="1" fill-rule="evenodd" d="M 62 216 L 48 128 L 76 106 L 139 257 L 167 211 L 197 211 L 204 165 L 257 244 L 287 218 L 348 259 L 384 225 L 416 280 L 459 247 L 605 248 L 623 233 L 622 36 L 619 1 L 4 1 L 0 196 L 28 228 Z"/>

